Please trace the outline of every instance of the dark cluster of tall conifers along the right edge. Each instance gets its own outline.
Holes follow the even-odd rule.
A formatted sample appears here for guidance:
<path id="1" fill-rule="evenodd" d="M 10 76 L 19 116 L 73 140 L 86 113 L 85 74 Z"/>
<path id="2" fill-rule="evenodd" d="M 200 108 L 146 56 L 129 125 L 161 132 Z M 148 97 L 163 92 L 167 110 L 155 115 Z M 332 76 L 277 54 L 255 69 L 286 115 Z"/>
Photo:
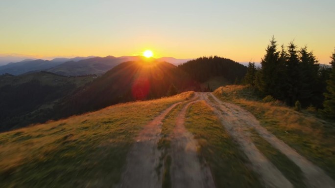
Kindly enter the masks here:
<path id="1" fill-rule="evenodd" d="M 335 116 L 335 52 L 332 68 L 321 66 L 307 46 L 298 48 L 294 42 L 278 50 L 274 37 L 266 48 L 261 67 L 249 63 L 243 82 L 251 84 L 264 96 L 303 107 L 324 108 L 328 116 Z"/>

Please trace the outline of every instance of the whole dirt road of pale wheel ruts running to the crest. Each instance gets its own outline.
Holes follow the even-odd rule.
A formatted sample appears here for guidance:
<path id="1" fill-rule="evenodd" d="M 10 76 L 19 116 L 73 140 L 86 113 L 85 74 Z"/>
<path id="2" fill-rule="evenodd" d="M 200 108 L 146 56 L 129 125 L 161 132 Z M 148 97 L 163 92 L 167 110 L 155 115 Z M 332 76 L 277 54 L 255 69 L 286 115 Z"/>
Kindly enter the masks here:
<path id="1" fill-rule="evenodd" d="M 171 187 L 172 188 L 215 188 L 215 183 L 206 163 L 200 163 L 197 142 L 185 128 L 186 111 L 190 104 L 204 100 L 210 105 L 221 124 L 239 144 L 267 188 L 293 188 L 292 184 L 254 145 L 251 130 L 255 129 L 269 144 L 285 154 L 301 168 L 309 188 L 335 188 L 335 182 L 321 168 L 287 146 L 268 132 L 248 111 L 236 104 L 224 103 L 212 93 L 196 93 L 197 99 L 171 105 L 158 117 L 145 125 L 128 153 L 127 164 L 118 188 L 161 188 L 163 168 L 157 169 L 162 150 L 157 147 L 161 138 L 162 121 L 176 105 L 185 103 L 178 113 L 171 135 Z M 209 99 L 211 98 L 211 100 Z M 160 173 L 157 173 L 157 170 Z"/>

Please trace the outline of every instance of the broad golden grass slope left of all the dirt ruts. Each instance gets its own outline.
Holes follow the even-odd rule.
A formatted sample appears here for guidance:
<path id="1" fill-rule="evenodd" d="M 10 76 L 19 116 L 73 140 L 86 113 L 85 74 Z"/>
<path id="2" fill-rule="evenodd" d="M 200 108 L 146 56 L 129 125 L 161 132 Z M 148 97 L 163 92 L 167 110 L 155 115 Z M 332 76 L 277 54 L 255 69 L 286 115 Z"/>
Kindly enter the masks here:
<path id="1" fill-rule="evenodd" d="M 127 152 L 142 127 L 192 95 L 118 104 L 0 133 L 0 187 L 111 187 L 119 182 Z"/>

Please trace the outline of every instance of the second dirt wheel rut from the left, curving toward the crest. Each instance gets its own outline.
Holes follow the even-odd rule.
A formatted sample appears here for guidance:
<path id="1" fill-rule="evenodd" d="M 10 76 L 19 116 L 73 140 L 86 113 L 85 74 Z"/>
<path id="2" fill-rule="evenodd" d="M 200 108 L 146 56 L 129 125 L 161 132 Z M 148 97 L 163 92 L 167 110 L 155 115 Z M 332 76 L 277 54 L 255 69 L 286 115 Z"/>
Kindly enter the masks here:
<path id="1" fill-rule="evenodd" d="M 176 119 L 171 140 L 172 188 L 215 188 L 209 167 L 199 161 L 197 142 L 184 126 L 186 110 L 198 101 L 186 104 Z"/>

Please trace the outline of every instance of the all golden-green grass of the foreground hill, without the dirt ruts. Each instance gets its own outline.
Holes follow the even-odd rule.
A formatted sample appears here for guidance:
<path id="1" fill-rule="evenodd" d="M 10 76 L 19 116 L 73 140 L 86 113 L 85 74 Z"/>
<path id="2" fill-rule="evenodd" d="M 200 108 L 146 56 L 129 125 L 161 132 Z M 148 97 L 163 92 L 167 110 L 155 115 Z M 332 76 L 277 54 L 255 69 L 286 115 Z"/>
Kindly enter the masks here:
<path id="1" fill-rule="evenodd" d="M 219 87 L 213 94 L 221 101 L 247 109 L 260 125 L 335 178 L 334 122 L 320 120 L 308 111 L 296 112 L 277 101 L 263 103 L 249 86 L 227 85 Z M 194 95 L 198 98 L 192 98 Z M 173 162 L 176 122 L 182 109 L 186 108 L 185 130 L 197 141 L 196 154 L 203 165 L 210 167 L 215 186 L 264 187 L 258 168 L 252 168 L 255 164 L 235 140 L 232 130 L 217 116 L 214 96 L 194 92 L 116 104 L 95 112 L 0 133 L 0 186 L 115 187 L 127 165 L 127 153 L 139 142 L 135 138 L 145 125 L 172 104 L 175 107 L 167 112 L 160 124 L 162 129 L 157 143 L 157 148 L 162 151 L 162 156 L 157 159 L 161 161 L 157 169 L 165 169 L 161 174 L 165 188 L 173 181 L 170 170 L 173 170 L 171 157 Z M 221 114 L 226 113 L 231 112 Z M 245 116 L 242 111 L 237 111 L 236 115 L 239 118 Z M 239 123 L 243 121 L 245 125 L 249 124 L 244 119 Z M 308 182 L 303 172 L 287 154 L 269 144 L 255 129 L 244 128 L 243 131 L 250 133 L 251 142 L 294 187 L 306 187 Z"/>

